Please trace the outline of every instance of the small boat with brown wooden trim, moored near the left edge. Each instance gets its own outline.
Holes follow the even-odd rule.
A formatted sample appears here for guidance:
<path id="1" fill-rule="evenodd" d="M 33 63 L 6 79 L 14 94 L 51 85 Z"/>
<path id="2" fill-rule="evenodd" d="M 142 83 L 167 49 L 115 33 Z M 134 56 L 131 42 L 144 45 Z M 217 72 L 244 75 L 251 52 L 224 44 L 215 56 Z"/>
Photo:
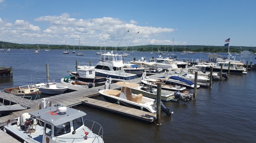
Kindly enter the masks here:
<path id="1" fill-rule="evenodd" d="M 32 100 L 38 99 L 41 91 L 33 85 L 24 85 L 19 87 L 5 88 L 3 92 L 16 96 L 31 96 Z"/>

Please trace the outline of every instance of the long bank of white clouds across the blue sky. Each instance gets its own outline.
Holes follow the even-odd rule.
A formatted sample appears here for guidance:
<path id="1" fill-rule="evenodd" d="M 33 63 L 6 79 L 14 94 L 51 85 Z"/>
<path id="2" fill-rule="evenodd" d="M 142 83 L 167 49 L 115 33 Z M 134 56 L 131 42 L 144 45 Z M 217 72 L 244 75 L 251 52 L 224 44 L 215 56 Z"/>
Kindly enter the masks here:
<path id="1" fill-rule="evenodd" d="M 35 21 L 39 25 L 44 23 L 48 26 L 41 31 L 41 27 L 34 25 L 33 21 L 16 20 L 14 23 L 7 23 L 0 19 L 0 23 L 5 25 L 0 29 L 0 33 L 3 31 L 4 33 L 15 32 L 16 39 L 20 38 L 18 43 L 33 44 L 52 41 L 54 44 L 65 44 L 66 40 L 67 42 L 74 40 L 78 42 L 80 39 L 81 43 L 87 45 L 99 46 L 100 42 L 105 42 L 107 46 L 115 46 L 123 38 L 119 46 L 127 46 L 132 39 L 134 39 L 133 45 L 172 44 L 172 41 L 169 41 L 169 34 L 175 31 L 173 28 L 140 26 L 135 20 L 130 20 L 127 23 L 113 17 L 76 19 L 67 13 L 59 16 L 37 17 Z M 128 30 L 129 32 L 127 32 Z M 137 34 L 138 31 L 140 31 L 139 34 Z M 0 34 L 0 36 L 2 35 Z M 30 38 L 27 37 L 33 37 L 33 39 L 28 41 Z M 12 39 L 12 35 L 8 35 L 6 41 L 10 39 Z"/>

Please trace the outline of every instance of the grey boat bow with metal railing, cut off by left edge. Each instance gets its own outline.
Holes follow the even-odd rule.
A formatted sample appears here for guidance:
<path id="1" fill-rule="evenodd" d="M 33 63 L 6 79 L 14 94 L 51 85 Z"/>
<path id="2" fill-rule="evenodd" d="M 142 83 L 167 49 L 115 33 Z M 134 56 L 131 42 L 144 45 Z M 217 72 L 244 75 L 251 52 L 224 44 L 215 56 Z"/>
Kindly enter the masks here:
<path id="1" fill-rule="evenodd" d="M 2 99 L 2 102 L 0 103 L 0 111 L 27 109 L 32 100 L 32 96 L 25 96 L 25 94 L 23 96 L 0 94 L 0 98 Z M 24 100 L 24 98 L 26 98 L 26 100 Z M 8 103 L 8 105 L 6 103 Z"/>

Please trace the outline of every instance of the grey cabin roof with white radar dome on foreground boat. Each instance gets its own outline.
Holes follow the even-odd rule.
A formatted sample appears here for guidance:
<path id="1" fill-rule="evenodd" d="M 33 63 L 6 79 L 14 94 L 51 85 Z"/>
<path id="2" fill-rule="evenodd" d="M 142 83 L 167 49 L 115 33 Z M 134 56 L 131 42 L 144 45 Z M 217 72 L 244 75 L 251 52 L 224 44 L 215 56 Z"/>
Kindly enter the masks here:
<path id="1" fill-rule="evenodd" d="M 52 106 L 30 112 L 29 114 L 39 120 L 52 123 L 54 126 L 73 121 L 76 118 L 86 115 L 85 112 L 70 107 L 63 107 L 60 104 L 58 104 L 58 109 L 57 106 Z"/>

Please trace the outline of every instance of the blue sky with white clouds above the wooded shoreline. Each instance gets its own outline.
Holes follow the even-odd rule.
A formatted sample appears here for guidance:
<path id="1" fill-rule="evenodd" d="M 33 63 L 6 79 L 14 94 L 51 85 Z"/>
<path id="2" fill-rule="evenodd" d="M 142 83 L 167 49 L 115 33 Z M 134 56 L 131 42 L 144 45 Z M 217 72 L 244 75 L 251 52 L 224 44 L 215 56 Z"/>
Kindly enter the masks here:
<path id="1" fill-rule="evenodd" d="M 230 38 L 230 46 L 255 47 L 255 6 L 256 0 L 0 0 L 0 41 L 224 46 Z"/>

